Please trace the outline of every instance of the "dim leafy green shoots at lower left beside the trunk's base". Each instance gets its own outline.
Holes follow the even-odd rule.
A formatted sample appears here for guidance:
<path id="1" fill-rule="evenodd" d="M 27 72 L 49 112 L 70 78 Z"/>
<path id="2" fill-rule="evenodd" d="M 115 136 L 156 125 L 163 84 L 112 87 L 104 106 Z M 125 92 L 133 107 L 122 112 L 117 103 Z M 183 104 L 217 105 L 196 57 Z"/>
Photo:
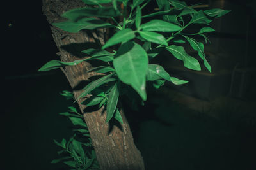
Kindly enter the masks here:
<path id="1" fill-rule="evenodd" d="M 73 93 L 67 90 L 61 92 L 61 95 L 65 96 L 67 99 L 74 99 Z M 68 141 L 63 138 L 61 143 L 59 143 L 54 139 L 54 143 L 62 148 L 62 150 L 58 151 L 58 154 L 63 155 L 63 157 L 52 160 L 52 163 L 65 160 L 64 164 L 74 169 L 99 169 L 95 151 L 92 146 L 92 139 L 90 138 L 87 125 L 83 120 L 83 115 L 73 106 L 68 107 L 68 109 L 67 112 L 60 113 L 60 115 L 68 117 L 77 128 L 73 129 L 74 135 Z M 86 136 L 87 142 L 79 141 L 79 139 L 77 139 L 79 136 Z M 85 141 L 84 138 L 83 141 Z"/>

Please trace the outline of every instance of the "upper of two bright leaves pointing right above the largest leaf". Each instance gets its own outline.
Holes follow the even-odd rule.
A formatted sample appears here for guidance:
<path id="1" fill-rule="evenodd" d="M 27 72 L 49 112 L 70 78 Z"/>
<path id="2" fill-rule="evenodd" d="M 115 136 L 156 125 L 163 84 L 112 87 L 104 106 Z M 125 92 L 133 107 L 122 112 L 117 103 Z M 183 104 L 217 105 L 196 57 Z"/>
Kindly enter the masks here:
<path id="1" fill-rule="evenodd" d="M 141 29 L 143 29 L 143 31 L 175 32 L 179 31 L 181 27 L 163 20 L 151 20 L 150 22 L 142 24 Z"/>

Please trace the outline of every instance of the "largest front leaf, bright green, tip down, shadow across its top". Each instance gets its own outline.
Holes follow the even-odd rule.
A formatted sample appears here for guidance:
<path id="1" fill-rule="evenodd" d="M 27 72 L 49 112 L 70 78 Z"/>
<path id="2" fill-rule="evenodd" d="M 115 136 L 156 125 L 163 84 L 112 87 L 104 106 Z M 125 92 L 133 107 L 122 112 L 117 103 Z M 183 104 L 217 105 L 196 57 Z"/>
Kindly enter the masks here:
<path id="1" fill-rule="evenodd" d="M 125 84 L 131 85 L 143 100 L 147 99 L 146 74 L 148 57 L 145 50 L 134 42 L 127 42 L 120 46 L 113 60 L 118 78 Z"/>

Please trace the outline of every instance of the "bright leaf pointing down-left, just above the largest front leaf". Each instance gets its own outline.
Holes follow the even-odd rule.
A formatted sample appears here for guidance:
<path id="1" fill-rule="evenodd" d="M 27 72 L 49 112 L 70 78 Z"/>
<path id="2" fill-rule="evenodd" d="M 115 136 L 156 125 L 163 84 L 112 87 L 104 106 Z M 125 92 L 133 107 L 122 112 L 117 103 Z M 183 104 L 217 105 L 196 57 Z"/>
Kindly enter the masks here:
<path id="1" fill-rule="evenodd" d="M 129 41 L 133 38 L 135 38 L 135 34 L 132 29 L 122 29 L 121 31 L 116 32 L 116 34 L 114 34 L 110 39 L 108 39 L 106 44 L 102 46 L 102 50 L 118 43 L 124 43 L 125 41 Z"/>

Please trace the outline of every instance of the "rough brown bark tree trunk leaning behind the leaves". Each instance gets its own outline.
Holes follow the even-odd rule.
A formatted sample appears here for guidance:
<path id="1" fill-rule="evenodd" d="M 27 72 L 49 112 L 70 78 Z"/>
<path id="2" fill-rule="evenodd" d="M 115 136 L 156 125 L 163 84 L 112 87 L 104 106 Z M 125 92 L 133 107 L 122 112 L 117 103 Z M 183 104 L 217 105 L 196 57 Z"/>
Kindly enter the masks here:
<path id="1" fill-rule="evenodd" d="M 49 24 L 52 24 L 53 22 L 63 21 L 61 15 L 65 11 L 82 6 L 84 6 L 84 3 L 81 0 L 43 0 L 42 11 L 46 15 Z M 51 27 L 51 30 L 60 51 L 57 54 L 64 62 L 81 59 L 83 56 L 80 52 L 86 49 L 86 46 L 92 48 L 97 43 L 104 44 L 104 29 L 97 30 L 97 34 L 84 31 L 71 34 L 54 26 Z M 77 52 L 77 50 L 79 51 Z M 88 81 L 91 76 L 95 76 L 95 73 L 87 73 L 88 69 L 91 68 L 92 66 L 89 63 L 82 62 L 77 66 L 67 66 L 62 69 L 72 89 L 74 89 L 75 98 L 81 94 L 81 90 L 77 89 L 77 86 L 84 81 Z M 82 113 L 84 113 L 84 120 L 90 131 L 100 169 L 145 169 L 143 158 L 134 145 L 130 127 L 123 111 L 121 110 L 121 115 L 124 124 L 117 127 L 116 125 L 109 125 L 109 123 L 106 124 L 104 107 L 97 111 L 85 113 L 84 108 L 86 106 L 82 105 L 81 101 L 82 99 L 79 99 L 78 104 Z M 102 111 L 104 112 L 102 113 Z"/>

